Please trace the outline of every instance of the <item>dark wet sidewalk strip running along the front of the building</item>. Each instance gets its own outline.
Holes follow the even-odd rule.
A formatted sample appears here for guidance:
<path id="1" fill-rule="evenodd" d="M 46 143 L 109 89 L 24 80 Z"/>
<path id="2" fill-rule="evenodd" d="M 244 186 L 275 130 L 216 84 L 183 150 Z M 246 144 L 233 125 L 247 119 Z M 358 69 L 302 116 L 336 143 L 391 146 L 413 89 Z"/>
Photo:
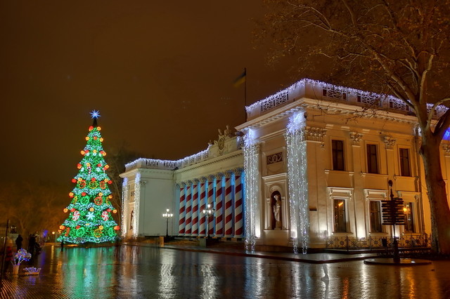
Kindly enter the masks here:
<path id="1" fill-rule="evenodd" d="M 147 242 L 123 242 L 124 245 L 131 246 L 149 246 L 149 247 L 161 247 L 172 250 L 181 251 L 194 251 L 204 253 L 217 253 L 225 255 L 239 255 L 247 256 L 249 258 L 269 258 L 273 260 L 290 260 L 293 262 L 310 263 L 310 264 L 326 264 L 326 263 L 342 263 L 351 260 L 365 260 L 366 258 L 376 258 L 376 253 L 285 253 L 285 252 L 268 252 L 268 251 L 245 251 L 244 248 L 240 249 L 236 246 L 230 247 L 226 244 L 222 246 L 200 247 L 193 244 L 171 244 L 171 242 L 160 246 L 155 243 Z"/>

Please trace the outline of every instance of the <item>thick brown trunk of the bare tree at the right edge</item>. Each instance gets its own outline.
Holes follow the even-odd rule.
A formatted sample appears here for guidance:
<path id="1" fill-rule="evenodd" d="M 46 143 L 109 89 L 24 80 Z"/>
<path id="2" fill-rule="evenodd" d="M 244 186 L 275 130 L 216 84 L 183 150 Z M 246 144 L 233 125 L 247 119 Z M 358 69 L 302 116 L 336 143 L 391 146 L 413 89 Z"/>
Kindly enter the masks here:
<path id="1" fill-rule="evenodd" d="M 450 254 L 450 209 L 442 177 L 440 140 L 423 136 L 420 155 L 425 167 L 425 182 L 431 211 L 431 240 L 435 253 Z"/>

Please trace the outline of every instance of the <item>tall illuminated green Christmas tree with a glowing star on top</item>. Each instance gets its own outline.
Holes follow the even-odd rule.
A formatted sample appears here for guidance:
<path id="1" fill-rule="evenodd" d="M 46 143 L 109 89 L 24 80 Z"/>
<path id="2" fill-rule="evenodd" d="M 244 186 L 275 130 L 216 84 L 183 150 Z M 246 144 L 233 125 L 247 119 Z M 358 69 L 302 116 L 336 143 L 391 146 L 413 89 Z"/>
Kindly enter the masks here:
<path id="1" fill-rule="evenodd" d="M 79 172 L 72 179 L 75 187 L 69 193 L 72 201 L 64 209 L 69 213 L 63 225 L 60 225 L 58 241 L 64 243 L 103 243 L 117 239 L 119 225 L 111 213 L 117 210 L 111 205 L 108 185 L 111 180 L 106 174 L 108 164 L 103 157 L 106 153 L 101 143 L 100 126 L 97 125 L 98 111 L 91 112 L 94 124 L 89 127 L 86 147 L 81 151 L 82 161 L 78 164 Z"/>

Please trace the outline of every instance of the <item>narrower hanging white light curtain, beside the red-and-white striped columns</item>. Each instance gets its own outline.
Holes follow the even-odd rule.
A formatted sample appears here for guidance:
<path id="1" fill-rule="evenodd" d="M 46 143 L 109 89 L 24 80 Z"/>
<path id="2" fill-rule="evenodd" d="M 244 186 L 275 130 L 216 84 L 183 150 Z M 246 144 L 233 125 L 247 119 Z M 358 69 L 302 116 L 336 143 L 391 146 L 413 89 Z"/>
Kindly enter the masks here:
<path id="1" fill-rule="evenodd" d="M 255 251 L 257 199 L 259 194 L 259 145 L 255 142 L 255 131 L 247 128 L 244 138 L 244 182 L 245 182 L 245 250 Z"/>

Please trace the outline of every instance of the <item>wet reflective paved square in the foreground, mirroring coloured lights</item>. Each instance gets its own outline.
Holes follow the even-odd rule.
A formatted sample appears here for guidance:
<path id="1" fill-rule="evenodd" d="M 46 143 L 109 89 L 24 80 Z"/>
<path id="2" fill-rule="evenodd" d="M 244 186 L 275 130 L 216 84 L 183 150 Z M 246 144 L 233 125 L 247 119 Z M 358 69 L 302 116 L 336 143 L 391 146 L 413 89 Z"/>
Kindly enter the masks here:
<path id="1" fill-rule="evenodd" d="M 450 261 L 311 264 L 150 246 L 45 246 L 1 298 L 450 298 Z M 23 265 L 22 267 L 27 267 Z"/>

